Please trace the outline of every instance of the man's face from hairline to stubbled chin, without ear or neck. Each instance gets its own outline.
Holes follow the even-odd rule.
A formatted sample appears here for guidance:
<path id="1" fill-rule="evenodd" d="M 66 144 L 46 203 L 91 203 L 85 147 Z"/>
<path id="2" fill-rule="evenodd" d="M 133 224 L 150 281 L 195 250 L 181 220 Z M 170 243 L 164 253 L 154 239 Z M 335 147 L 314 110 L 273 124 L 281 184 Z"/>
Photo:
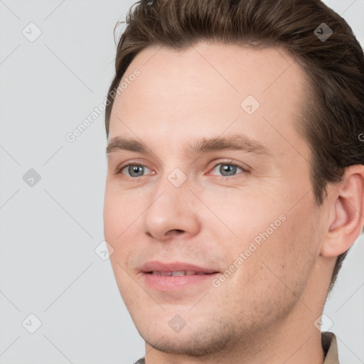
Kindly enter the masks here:
<path id="1" fill-rule="evenodd" d="M 104 220 L 141 336 L 159 350 L 209 353 L 304 312 L 320 236 L 311 154 L 294 129 L 299 65 L 277 48 L 199 43 L 147 48 L 124 78 L 135 69 L 109 141 L 145 151 L 110 149 Z"/>

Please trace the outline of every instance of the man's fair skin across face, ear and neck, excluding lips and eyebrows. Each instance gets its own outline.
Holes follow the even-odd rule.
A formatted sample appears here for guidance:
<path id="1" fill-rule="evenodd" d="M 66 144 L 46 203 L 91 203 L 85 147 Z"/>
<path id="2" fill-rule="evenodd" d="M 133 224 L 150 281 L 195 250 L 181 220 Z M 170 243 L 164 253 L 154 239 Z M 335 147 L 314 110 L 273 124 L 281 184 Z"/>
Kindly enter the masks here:
<path id="1" fill-rule="evenodd" d="M 109 141 L 137 139 L 150 153 L 109 153 L 104 223 L 146 363 L 323 363 L 314 321 L 336 257 L 363 228 L 364 173 L 347 168 L 316 205 L 311 151 L 295 128 L 304 107 L 301 66 L 279 48 L 201 42 L 180 51 L 146 48 L 124 77 L 136 68 L 137 80 L 115 98 Z M 240 106 L 247 95 L 260 103 L 251 115 Z M 196 139 L 232 134 L 259 141 L 269 155 L 186 151 Z M 132 162 L 144 175 L 115 174 Z M 226 176 L 224 163 L 247 171 Z M 168 180 L 175 168 L 187 178 L 179 187 Z M 149 260 L 224 272 L 282 215 L 219 287 L 209 281 L 160 292 L 143 280 Z M 168 325 L 176 314 L 186 322 L 178 333 Z"/>

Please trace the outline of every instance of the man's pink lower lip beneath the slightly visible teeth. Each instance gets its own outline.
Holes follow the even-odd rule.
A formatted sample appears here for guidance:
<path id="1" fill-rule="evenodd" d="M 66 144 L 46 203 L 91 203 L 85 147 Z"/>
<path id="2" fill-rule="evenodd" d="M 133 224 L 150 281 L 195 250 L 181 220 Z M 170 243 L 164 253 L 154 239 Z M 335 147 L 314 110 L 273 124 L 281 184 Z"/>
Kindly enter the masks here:
<path id="1" fill-rule="evenodd" d="M 159 276 L 157 274 L 143 273 L 146 284 L 158 291 L 178 291 L 193 284 L 207 284 L 217 275 L 218 273 L 191 274 L 191 276 Z"/>

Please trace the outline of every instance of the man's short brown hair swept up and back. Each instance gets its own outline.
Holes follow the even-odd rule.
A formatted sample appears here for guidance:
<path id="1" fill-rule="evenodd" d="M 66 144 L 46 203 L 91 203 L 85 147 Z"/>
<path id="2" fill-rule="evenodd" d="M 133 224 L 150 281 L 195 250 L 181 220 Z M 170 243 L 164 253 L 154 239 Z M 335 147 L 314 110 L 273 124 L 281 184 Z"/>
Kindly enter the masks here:
<path id="1" fill-rule="evenodd" d="M 297 127 L 313 155 L 310 177 L 318 205 L 323 203 L 327 183 L 341 181 L 344 168 L 364 164 L 364 146 L 358 137 L 364 132 L 363 50 L 348 23 L 322 1 L 140 0 L 129 9 L 126 23 L 107 95 L 107 137 L 115 90 L 144 48 L 161 45 L 183 50 L 198 41 L 275 45 L 299 60 L 306 71 L 306 107 Z M 319 38 L 326 26 L 333 33 Z M 347 252 L 338 256 L 329 290 Z"/>

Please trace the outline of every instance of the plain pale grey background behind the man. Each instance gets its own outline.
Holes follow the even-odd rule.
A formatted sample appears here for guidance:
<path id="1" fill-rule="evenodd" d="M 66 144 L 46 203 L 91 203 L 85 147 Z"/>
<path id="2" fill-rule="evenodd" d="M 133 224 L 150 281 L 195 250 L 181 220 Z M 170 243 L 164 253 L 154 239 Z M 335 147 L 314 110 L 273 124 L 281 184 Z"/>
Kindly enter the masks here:
<path id="1" fill-rule="evenodd" d="M 113 28 L 132 4 L 0 0 L 0 364 L 144 355 L 109 260 L 95 253 L 104 240 L 104 114 L 65 139 L 107 94 Z M 326 4 L 364 45 L 364 0 Z M 33 42 L 22 33 L 36 35 L 31 22 L 42 32 Z M 31 168 L 41 180 L 28 186 Z M 342 363 L 364 363 L 363 257 L 360 235 L 325 309 Z M 42 323 L 34 333 L 30 314 Z"/>

